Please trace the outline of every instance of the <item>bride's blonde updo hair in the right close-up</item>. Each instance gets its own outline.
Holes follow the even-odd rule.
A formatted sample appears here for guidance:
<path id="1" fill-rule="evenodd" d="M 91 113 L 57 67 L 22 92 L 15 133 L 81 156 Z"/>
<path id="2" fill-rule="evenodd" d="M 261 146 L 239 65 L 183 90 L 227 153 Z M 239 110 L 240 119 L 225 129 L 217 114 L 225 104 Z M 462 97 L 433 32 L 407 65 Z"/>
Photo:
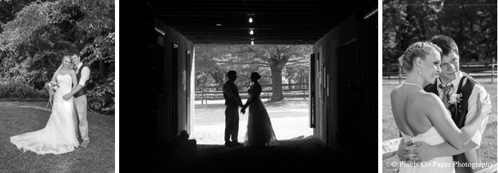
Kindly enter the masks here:
<path id="1" fill-rule="evenodd" d="M 441 53 L 441 48 L 432 44 L 430 42 L 415 42 L 408 46 L 407 51 L 404 51 L 403 55 L 398 58 L 400 66 L 403 68 L 404 72 L 408 73 L 413 69 L 413 62 L 417 57 L 425 60 L 425 57 L 432 53 L 432 51 L 438 51 Z"/>

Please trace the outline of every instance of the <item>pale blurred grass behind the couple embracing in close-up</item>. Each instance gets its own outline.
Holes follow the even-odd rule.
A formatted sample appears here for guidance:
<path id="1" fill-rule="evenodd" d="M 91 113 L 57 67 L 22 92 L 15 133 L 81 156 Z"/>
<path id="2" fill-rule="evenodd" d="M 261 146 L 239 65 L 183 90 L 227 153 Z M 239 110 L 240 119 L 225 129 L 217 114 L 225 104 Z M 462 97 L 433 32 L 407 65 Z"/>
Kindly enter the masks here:
<path id="1" fill-rule="evenodd" d="M 497 79 L 493 83 L 489 78 L 476 79 L 479 83 L 483 84 L 484 88 L 490 94 L 492 102 L 492 113 L 497 113 Z M 404 81 L 402 81 L 404 82 Z M 398 86 L 398 80 L 383 80 L 382 81 L 382 141 L 399 138 L 399 130 L 394 122 L 393 112 L 391 111 L 391 91 Z M 493 96 L 495 96 L 493 98 Z M 384 118 L 385 117 L 385 118 Z M 387 118 L 389 117 L 389 118 Z M 479 157 L 483 163 L 495 164 L 497 163 L 497 131 L 487 131 L 481 140 L 481 148 Z M 398 172 L 398 167 L 392 167 L 390 164 L 393 161 L 398 161 L 398 157 L 388 158 L 382 161 L 382 172 Z"/>

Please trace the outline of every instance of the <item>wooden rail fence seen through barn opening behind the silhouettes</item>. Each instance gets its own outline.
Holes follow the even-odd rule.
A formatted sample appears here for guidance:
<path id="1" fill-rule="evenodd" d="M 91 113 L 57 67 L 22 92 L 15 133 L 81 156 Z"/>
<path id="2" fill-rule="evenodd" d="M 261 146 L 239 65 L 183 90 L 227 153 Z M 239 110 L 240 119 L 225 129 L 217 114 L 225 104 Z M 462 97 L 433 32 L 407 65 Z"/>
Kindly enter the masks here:
<path id="1" fill-rule="evenodd" d="M 287 86 L 287 87 L 285 87 Z M 224 100 L 223 97 L 223 86 L 202 86 L 201 91 L 195 91 L 195 101 L 201 100 L 201 104 L 208 103 L 208 100 Z M 249 95 L 247 90 L 251 86 L 238 86 L 240 98 L 247 99 Z M 262 84 L 260 98 L 272 98 L 272 84 Z M 265 89 L 270 87 L 270 90 Z M 282 84 L 284 98 L 303 98 L 308 96 L 308 84 Z M 287 88 L 287 89 L 285 89 Z M 215 90 L 215 91 L 212 91 Z"/>

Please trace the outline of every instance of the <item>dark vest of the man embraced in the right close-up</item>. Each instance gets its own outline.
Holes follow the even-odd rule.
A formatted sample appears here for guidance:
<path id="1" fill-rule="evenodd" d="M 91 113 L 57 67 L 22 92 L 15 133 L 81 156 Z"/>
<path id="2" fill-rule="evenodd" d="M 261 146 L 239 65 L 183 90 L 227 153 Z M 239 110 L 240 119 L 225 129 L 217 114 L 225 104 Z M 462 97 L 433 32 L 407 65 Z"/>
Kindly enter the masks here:
<path id="1" fill-rule="evenodd" d="M 462 86 L 463 80 L 467 80 L 465 85 Z M 468 101 L 470 98 L 470 94 L 472 93 L 472 89 L 474 89 L 474 85 L 476 83 L 472 82 L 472 80 L 468 80 L 465 76 L 463 76 L 460 80 L 459 88 L 456 89 L 456 93 L 462 93 L 462 100 L 459 104 L 450 104 L 447 109 L 452 113 L 452 120 L 455 122 L 456 127 L 461 129 L 465 126 L 465 117 L 467 116 L 468 111 Z M 438 81 L 434 82 L 434 84 L 429 84 L 425 86 L 425 91 L 438 94 Z M 472 143 L 472 142 L 470 142 Z M 463 165 L 464 163 L 481 163 L 479 161 L 479 154 L 477 154 L 476 149 L 470 149 L 468 152 L 464 152 L 462 154 L 457 154 L 453 156 L 453 161 L 458 162 Z M 459 165 L 455 165 L 456 172 L 472 172 L 472 167 L 459 167 Z"/>

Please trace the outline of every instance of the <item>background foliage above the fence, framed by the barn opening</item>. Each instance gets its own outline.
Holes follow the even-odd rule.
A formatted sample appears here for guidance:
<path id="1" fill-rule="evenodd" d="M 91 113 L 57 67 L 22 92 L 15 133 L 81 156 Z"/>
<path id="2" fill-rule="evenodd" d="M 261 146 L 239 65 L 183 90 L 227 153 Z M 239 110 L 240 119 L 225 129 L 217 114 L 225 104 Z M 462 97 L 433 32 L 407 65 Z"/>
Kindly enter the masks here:
<path id="1" fill-rule="evenodd" d="M 260 84 L 272 84 L 272 100 L 282 100 L 282 84 L 308 82 L 311 45 L 196 45 L 195 89 L 222 86 L 228 71 L 237 71 L 238 86 L 248 86 L 252 72 Z"/>

